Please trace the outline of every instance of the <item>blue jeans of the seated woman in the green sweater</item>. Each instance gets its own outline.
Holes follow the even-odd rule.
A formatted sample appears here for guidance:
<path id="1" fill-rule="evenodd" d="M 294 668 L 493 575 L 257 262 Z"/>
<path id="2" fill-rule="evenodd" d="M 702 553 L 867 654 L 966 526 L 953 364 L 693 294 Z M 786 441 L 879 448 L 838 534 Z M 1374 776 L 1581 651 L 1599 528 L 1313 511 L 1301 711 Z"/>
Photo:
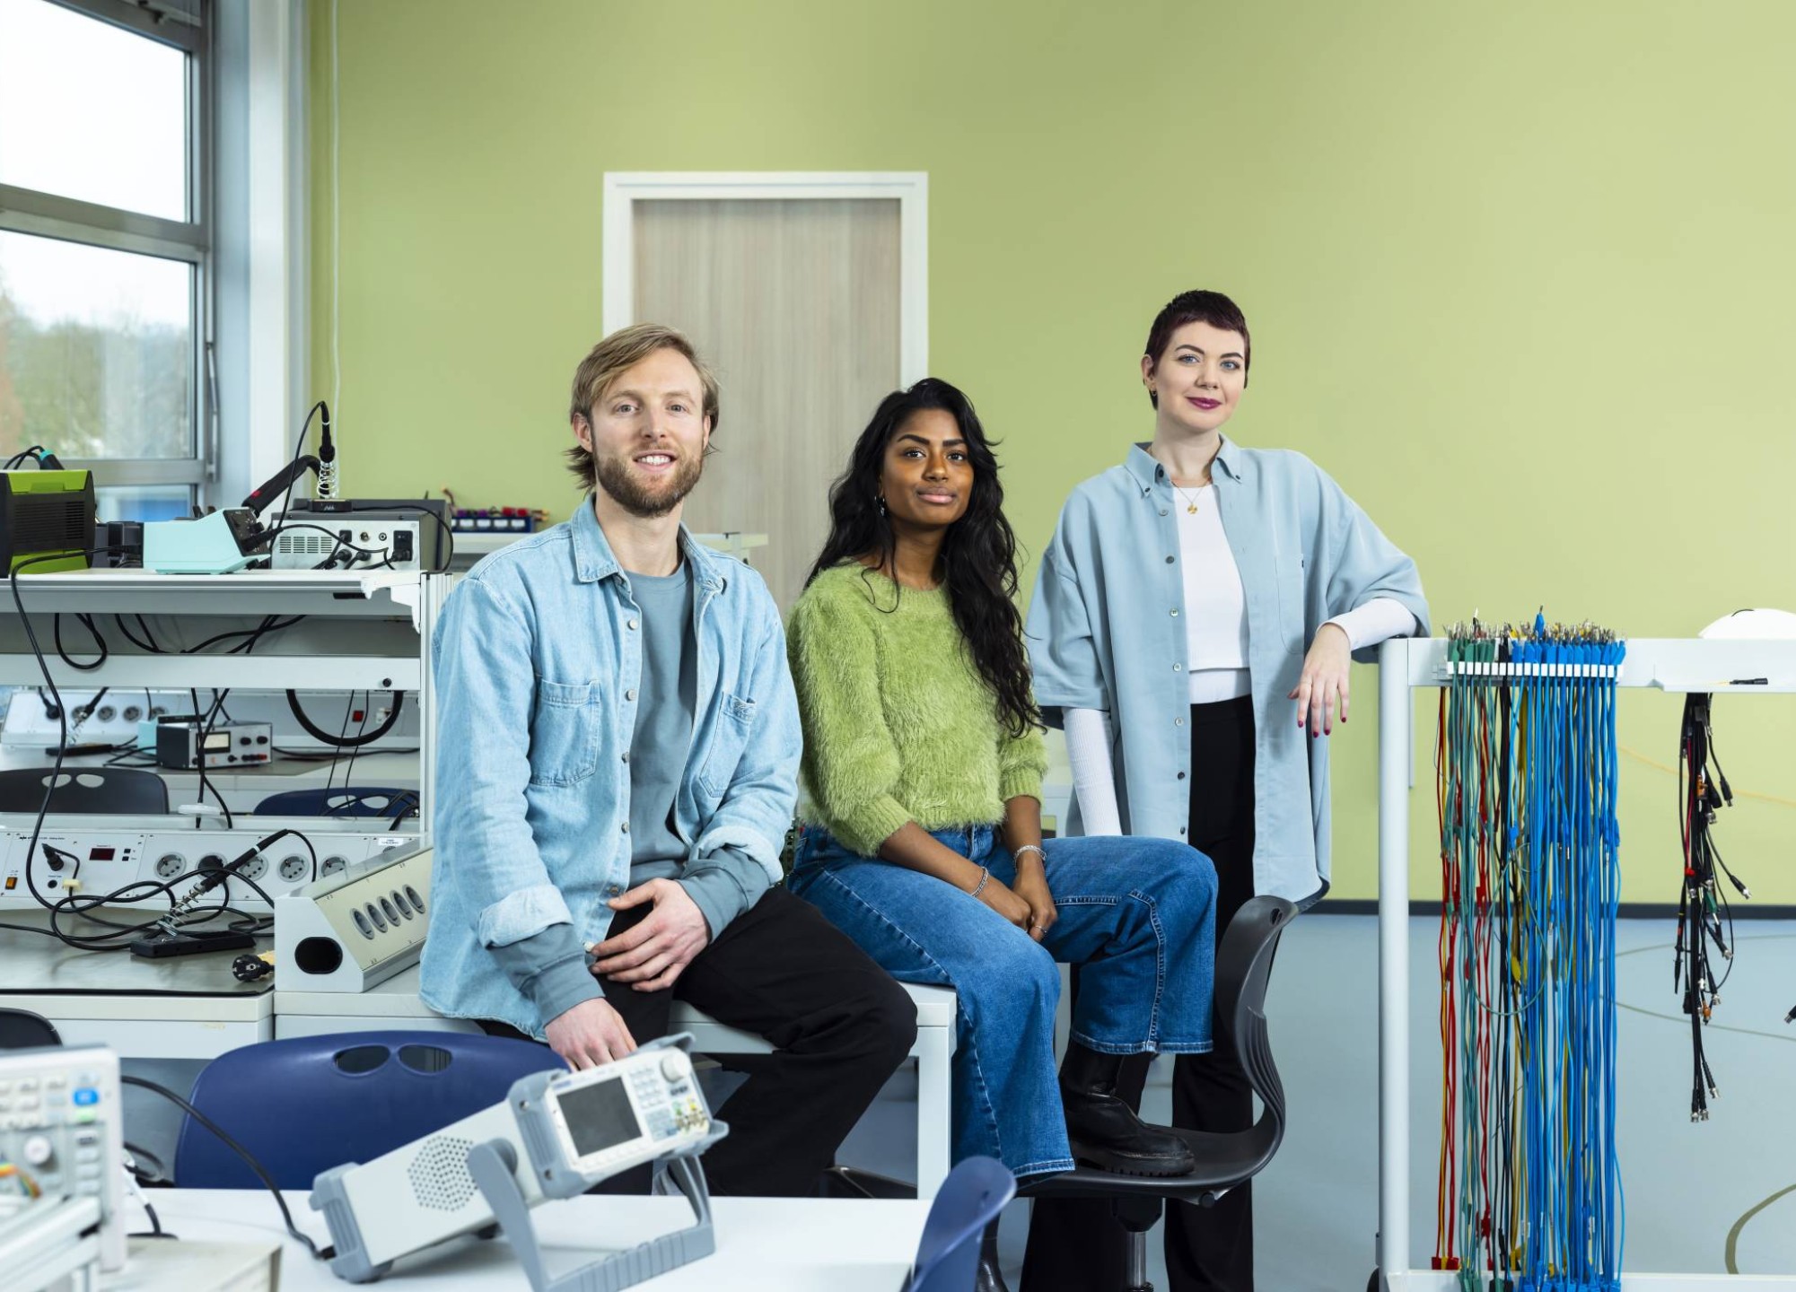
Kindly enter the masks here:
<path id="1" fill-rule="evenodd" d="M 990 825 L 936 840 L 1017 877 Z M 1157 838 L 1054 838 L 1047 888 L 1060 919 L 1036 942 L 977 897 L 799 836 L 792 892 L 814 903 L 898 982 L 954 987 L 954 1159 L 997 1157 L 1017 1175 L 1072 1168 L 1054 1077 L 1060 971 L 1083 965 L 1072 1039 L 1103 1053 L 1209 1053 L 1216 985 L 1216 869 Z"/>

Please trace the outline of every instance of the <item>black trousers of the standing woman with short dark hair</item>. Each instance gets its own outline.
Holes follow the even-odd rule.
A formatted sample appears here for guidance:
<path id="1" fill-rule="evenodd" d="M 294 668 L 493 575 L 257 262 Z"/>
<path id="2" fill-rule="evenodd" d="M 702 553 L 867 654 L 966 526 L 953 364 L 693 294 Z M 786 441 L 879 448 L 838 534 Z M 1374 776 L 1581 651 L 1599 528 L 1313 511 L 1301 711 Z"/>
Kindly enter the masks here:
<path id="1" fill-rule="evenodd" d="M 1216 863 L 1216 944 L 1254 895 L 1254 700 L 1191 705 L 1191 845 Z M 1078 991 L 1078 983 L 1074 983 Z M 1119 1095 L 1140 1107 L 1148 1059 L 1122 1064 Z M 1245 1130 L 1254 1125 L 1246 1073 L 1221 1052 L 1173 1061 L 1173 1125 Z M 1122 1287 L 1128 1233 L 1105 1199 L 1031 1204 L 1022 1292 L 1115 1292 Z M 1252 1292 L 1252 1184 L 1212 1208 L 1169 1202 L 1166 1272 L 1173 1292 Z"/>

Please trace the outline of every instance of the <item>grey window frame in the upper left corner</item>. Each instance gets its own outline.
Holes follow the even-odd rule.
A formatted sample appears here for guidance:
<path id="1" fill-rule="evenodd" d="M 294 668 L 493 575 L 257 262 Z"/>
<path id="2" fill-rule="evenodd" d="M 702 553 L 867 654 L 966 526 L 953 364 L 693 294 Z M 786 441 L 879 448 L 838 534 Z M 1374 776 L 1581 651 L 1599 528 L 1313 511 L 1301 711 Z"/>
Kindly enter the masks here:
<path id="1" fill-rule="evenodd" d="M 194 499 L 217 479 L 219 400 L 214 273 L 214 149 L 216 59 L 212 0 L 199 0 L 198 20 L 154 0 L 47 0 L 135 36 L 169 45 L 187 56 L 187 221 L 104 206 L 61 194 L 0 183 L 0 230 L 36 237 L 153 255 L 192 267 L 189 310 L 192 354 L 189 389 L 192 452 L 187 458 L 75 458 L 57 454 L 65 467 L 93 472 L 97 488 L 113 484 L 185 484 Z M 52 445 L 54 449 L 54 445 Z"/>

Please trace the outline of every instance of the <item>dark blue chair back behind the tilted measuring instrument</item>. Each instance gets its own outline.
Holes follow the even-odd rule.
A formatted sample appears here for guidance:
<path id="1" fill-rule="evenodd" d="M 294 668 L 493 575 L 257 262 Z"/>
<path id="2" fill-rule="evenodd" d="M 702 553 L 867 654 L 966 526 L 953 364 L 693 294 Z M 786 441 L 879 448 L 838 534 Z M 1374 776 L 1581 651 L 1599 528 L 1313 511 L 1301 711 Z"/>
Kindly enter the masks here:
<path id="1" fill-rule="evenodd" d="M 467 1032 L 341 1032 L 262 1041 L 199 1071 L 190 1102 L 284 1190 L 374 1161 L 497 1104 L 512 1082 L 562 1062 L 532 1041 Z M 259 1188 L 242 1157 L 199 1125 L 174 1148 L 181 1188 Z"/>

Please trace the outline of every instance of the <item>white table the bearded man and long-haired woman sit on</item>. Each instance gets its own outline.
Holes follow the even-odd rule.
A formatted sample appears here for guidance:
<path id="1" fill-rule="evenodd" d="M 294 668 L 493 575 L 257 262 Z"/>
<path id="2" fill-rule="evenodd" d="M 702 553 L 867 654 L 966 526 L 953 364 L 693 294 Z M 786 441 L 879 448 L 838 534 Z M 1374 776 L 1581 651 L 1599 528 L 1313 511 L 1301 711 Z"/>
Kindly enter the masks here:
<path id="1" fill-rule="evenodd" d="M 948 987 L 903 989 L 916 1001 L 916 1179 L 918 1195 L 934 1197 L 948 1175 L 948 1132 L 954 1057 L 955 1000 Z M 361 994 L 309 992 L 282 987 L 275 971 L 275 1039 L 329 1032 L 377 1032 L 386 1028 L 478 1032 L 465 1019 L 447 1019 L 418 1000 L 418 971 L 406 969 Z M 751 1032 L 738 1032 L 675 1001 L 672 1028 L 691 1032 L 693 1048 L 706 1053 L 767 1053 L 770 1046 Z"/>

